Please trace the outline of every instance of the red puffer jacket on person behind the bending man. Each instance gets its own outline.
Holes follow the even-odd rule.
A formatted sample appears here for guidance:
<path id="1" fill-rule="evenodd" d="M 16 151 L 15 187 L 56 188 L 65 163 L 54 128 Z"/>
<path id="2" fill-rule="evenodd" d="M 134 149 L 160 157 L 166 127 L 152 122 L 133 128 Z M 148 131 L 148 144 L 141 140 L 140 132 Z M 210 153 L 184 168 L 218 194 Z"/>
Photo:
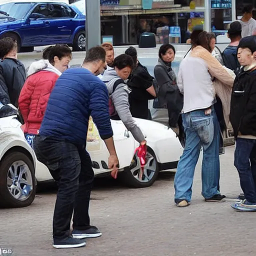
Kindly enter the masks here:
<path id="1" fill-rule="evenodd" d="M 57 72 L 47 68 L 26 79 L 18 98 L 19 110 L 25 122 L 24 133 L 38 133 L 49 95 L 58 77 Z"/>

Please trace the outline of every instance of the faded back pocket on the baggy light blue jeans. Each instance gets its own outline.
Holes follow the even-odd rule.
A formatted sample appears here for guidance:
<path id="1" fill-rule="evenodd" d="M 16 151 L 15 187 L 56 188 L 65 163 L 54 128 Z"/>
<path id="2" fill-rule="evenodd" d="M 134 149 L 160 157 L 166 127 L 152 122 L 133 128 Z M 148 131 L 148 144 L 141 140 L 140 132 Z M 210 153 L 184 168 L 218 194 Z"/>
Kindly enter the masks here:
<path id="1" fill-rule="evenodd" d="M 213 116 L 205 115 L 202 117 L 192 118 L 192 126 L 203 144 L 210 144 L 214 136 Z"/>

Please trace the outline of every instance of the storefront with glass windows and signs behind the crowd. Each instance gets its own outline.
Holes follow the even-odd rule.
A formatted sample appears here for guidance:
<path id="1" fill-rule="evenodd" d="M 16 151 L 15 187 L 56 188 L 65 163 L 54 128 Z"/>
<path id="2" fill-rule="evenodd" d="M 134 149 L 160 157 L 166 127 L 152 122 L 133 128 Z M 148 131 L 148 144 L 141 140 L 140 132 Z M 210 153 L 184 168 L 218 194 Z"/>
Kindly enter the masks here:
<path id="1" fill-rule="evenodd" d="M 239 0 L 101 0 L 101 34 L 111 35 L 113 43 L 137 44 L 142 32 L 156 34 L 158 43 L 185 43 L 194 25 L 224 34 L 236 19 L 235 1 Z M 170 28 L 172 27 L 172 28 Z M 175 28 L 179 27 L 179 28 Z M 171 30 L 172 29 L 172 30 Z M 178 36 L 176 32 L 176 37 Z M 174 42 L 173 41 L 173 42 Z"/>

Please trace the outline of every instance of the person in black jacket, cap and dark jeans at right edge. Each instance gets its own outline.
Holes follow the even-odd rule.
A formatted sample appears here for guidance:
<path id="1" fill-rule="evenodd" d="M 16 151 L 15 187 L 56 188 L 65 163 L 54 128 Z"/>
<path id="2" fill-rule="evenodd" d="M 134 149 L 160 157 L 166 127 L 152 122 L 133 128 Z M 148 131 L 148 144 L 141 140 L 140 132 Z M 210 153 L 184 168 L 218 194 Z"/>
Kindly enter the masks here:
<path id="1" fill-rule="evenodd" d="M 230 122 L 236 139 L 234 165 L 245 199 L 231 207 L 256 211 L 256 37 L 242 38 L 237 48 L 242 68 L 234 80 Z"/>

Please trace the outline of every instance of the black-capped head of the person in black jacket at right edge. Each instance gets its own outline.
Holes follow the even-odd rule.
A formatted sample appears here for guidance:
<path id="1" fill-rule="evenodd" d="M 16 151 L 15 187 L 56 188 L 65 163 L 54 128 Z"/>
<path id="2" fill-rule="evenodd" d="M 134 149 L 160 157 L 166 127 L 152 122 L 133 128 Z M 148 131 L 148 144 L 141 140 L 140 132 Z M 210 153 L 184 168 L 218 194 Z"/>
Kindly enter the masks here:
<path id="1" fill-rule="evenodd" d="M 256 64 L 256 38 L 255 36 L 243 37 L 237 46 L 237 59 L 242 66 Z"/>

